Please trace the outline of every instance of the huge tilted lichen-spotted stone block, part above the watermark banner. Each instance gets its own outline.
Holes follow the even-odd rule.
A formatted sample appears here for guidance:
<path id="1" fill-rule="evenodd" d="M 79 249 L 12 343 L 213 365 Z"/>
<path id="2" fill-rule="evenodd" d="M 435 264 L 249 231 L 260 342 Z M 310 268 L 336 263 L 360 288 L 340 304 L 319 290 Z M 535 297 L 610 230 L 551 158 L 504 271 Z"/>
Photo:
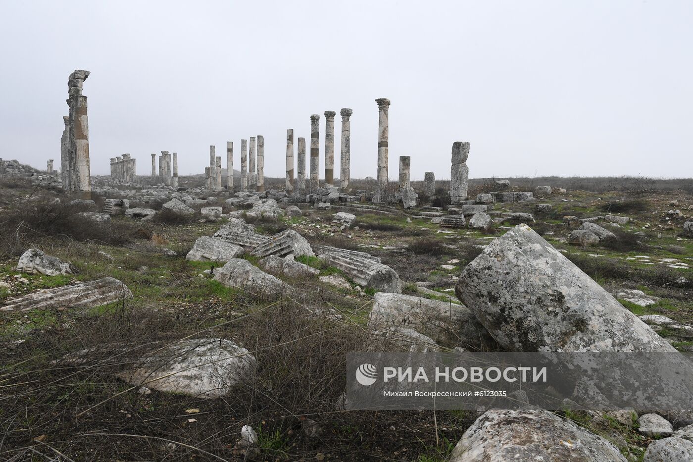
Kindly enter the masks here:
<path id="1" fill-rule="evenodd" d="M 486 246 L 455 294 L 509 351 L 676 351 L 527 225 Z"/>

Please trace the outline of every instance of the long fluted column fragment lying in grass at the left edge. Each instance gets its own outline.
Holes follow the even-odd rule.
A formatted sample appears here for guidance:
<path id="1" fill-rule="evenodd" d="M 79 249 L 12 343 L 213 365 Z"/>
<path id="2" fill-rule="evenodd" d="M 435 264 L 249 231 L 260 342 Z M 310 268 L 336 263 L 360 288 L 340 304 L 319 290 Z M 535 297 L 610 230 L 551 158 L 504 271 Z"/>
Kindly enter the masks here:
<path id="1" fill-rule="evenodd" d="M 8 305 L 0 308 L 0 311 L 28 311 L 60 307 L 94 308 L 124 298 L 132 298 L 132 292 L 125 284 L 113 277 L 102 277 L 95 281 L 44 289 L 24 297 L 7 300 Z"/>

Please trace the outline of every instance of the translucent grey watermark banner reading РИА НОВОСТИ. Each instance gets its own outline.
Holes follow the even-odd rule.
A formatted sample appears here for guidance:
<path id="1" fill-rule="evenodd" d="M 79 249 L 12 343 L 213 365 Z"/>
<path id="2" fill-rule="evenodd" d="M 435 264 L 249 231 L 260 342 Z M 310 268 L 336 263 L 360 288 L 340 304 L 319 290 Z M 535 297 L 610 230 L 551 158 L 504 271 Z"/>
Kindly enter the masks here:
<path id="1" fill-rule="evenodd" d="M 347 409 L 684 410 L 693 362 L 680 353 L 347 355 Z"/>

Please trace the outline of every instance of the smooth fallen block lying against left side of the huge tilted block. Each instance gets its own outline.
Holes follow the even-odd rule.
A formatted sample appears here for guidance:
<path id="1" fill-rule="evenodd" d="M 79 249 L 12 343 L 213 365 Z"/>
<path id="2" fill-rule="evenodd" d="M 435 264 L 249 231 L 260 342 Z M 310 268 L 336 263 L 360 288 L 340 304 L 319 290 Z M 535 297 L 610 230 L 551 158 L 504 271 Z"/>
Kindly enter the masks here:
<path id="1" fill-rule="evenodd" d="M 466 307 L 400 293 L 376 293 L 368 326 L 373 329 L 407 327 L 438 344 L 475 350 L 486 350 L 495 344 Z"/>

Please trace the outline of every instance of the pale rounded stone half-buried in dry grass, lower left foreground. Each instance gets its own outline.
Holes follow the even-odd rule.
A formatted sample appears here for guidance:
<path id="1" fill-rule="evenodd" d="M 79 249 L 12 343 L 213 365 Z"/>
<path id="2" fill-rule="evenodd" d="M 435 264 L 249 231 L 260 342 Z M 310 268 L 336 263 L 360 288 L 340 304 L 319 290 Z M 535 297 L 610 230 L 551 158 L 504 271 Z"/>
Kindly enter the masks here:
<path id="1" fill-rule="evenodd" d="M 119 377 L 159 391 L 216 398 L 228 395 L 239 382 L 250 382 L 256 368 L 256 359 L 247 349 L 226 339 L 188 339 L 155 346 Z"/>

